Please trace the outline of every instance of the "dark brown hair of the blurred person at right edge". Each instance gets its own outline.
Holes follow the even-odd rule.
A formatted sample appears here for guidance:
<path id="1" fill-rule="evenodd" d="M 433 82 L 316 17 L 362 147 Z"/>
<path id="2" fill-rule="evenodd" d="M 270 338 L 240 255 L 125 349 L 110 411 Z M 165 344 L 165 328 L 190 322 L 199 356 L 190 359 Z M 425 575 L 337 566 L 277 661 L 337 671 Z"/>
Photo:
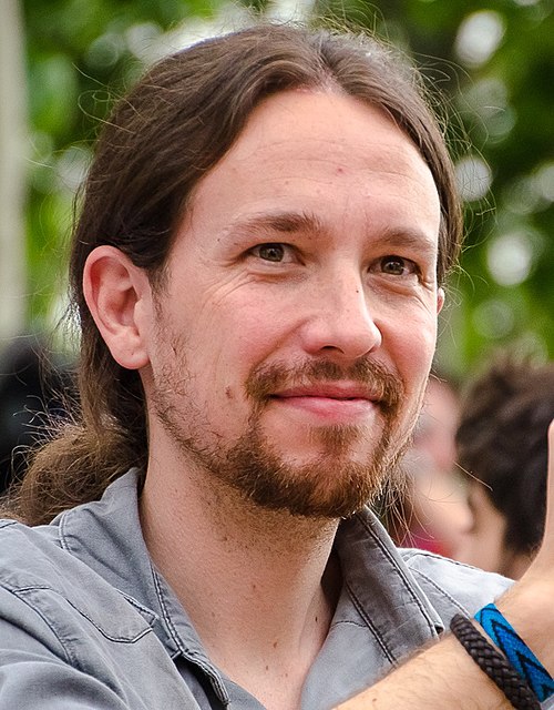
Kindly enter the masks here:
<path id="1" fill-rule="evenodd" d="M 468 388 L 456 433 L 458 460 L 505 517 L 504 542 L 536 550 L 544 530 L 547 429 L 554 418 L 554 363 L 500 357 Z"/>

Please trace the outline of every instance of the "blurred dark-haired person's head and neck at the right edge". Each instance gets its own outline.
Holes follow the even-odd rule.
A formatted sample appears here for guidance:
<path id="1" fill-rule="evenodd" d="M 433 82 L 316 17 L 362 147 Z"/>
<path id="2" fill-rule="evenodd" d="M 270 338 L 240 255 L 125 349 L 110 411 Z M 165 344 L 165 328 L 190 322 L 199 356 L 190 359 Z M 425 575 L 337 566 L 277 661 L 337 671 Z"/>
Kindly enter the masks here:
<path id="1" fill-rule="evenodd" d="M 542 539 L 554 363 L 504 356 L 470 385 L 456 434 L 471 514 L 454 557 L 519 579 Z"/>

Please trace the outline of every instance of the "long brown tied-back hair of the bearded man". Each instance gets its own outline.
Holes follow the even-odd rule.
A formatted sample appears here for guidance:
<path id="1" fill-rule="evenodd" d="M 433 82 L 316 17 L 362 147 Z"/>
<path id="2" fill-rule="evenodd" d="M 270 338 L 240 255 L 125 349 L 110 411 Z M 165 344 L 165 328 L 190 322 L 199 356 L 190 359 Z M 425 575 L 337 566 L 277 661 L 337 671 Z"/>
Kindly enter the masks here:
<path id="1" fill-rule="evenodd" d="M 163 278 L 175 226 L 198 180 L 226 153 L 259 102 L 294 88 L 346 92 L 380 106 L 418 146 L 442 206 L 438 277 L 455 263 L 461 211 L 444 138 L 418 72 L 368 38 L 265 24 L 201 42 L 157 63 L 105 123 L 73 234 L 71 295 L 81 327 L 79 419 L 34 456 L 19 488 L 30 524 L 98 498 L 148 454 L 136 372 L 112 358 L 83 297 L 90 252 L 111 244 Z"/>

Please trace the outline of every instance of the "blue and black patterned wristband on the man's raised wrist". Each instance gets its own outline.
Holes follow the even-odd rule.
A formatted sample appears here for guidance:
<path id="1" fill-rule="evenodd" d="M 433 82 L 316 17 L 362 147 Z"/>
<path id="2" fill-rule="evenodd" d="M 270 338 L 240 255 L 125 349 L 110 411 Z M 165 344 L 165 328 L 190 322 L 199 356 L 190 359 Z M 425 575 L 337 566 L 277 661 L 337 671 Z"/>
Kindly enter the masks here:
<path id="1" fill-rule="evenodd" d="M 554 680 L 548 671 L 496 609 L 495 605 L 489 604 L 483 607 L 475 613 L 475 620 L 504 653 L 519 674 L 527 682 L 541 702 L 554 694 Z"/>

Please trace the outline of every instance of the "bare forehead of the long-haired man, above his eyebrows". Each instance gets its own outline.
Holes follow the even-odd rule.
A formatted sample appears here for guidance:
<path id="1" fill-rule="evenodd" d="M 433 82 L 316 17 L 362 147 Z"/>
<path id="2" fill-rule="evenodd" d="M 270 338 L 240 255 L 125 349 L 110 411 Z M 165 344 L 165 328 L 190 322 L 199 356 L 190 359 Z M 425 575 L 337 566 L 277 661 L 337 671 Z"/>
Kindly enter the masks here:
<path id="1" fill-rule="evenodd" d="M 260 103 L 227 154 L 198 183 L 188 216 L 206 211 L 309 211 L 345 219 L 416 219 L 438 237 L 440 204 L 412 141 L 378 108 L 328 91 L 291 90 Z M 243 214 L 246 213 L 246 214 Z M 326 214 L 327 213 L 327 214 Z"/>

